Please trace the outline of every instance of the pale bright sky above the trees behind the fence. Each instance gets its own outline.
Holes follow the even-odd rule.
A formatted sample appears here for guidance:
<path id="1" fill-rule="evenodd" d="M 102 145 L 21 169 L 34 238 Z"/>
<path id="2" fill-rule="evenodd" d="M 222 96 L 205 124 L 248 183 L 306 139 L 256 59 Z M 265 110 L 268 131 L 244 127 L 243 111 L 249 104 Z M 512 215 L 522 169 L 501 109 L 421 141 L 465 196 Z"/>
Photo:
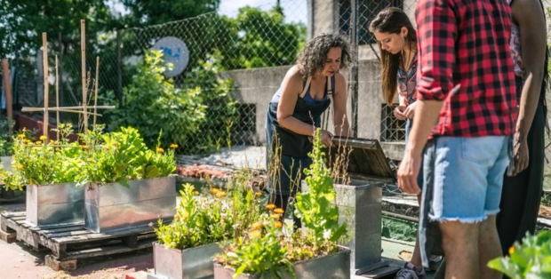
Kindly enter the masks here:
<path id="1" fill-rule="evenodd" d="M 268 10 L 277 3 L 277 0 L 221 0 L 219 13 L 236 17 L 239 8 L 246 5 L 260 7 L 261 10 Z M 124 5 L 120 0 L 108 0 L 108 5 L 116 12 L 125 14 Z M 307 24 L 307 0 L 281 0 L 283 14 L 286 22 L 302 22 Z"/>

